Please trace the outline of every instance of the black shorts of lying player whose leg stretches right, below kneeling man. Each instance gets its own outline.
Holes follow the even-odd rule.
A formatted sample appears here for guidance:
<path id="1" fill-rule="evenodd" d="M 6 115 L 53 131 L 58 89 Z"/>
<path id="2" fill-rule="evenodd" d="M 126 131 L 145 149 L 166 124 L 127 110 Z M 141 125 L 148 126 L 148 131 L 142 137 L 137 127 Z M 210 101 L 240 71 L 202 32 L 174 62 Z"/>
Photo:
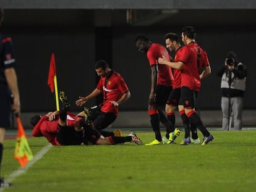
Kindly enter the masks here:
<path id="1" fill-rule="evenodd" d="M 83 127 L 83 144 L 96 144 L 101 134 L 93 127 Z"/>

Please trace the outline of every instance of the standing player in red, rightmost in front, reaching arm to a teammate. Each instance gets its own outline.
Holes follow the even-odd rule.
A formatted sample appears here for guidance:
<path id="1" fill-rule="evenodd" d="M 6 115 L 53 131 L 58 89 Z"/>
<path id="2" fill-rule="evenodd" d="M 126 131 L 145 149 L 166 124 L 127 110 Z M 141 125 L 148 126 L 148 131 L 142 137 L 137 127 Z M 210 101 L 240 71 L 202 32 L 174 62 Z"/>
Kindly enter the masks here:
<path id="1" fill-rule="evenodd" d="M 200 46 L 195 43 L 195 29 L 194 27 L 182 28 L 182 41 L 186 45 L 181 49 L 181 57 L 179 61 L 169 62 L 164 58 L 159 58 L 160 64 L 168 65 L 173 69 L 181 70 L 181 101 L 184 106 L 184 111 L 189 117 L 190 123 L 194 124 L 203 134 L 202 145 L 208 144 L 213 140 L 213 135 L 203 125 L 197 112 L 195 112 L 195 98 L 197 92 L 200 90 L 201 82 L 198 73 L 198 65 L 200 65 Z"/>

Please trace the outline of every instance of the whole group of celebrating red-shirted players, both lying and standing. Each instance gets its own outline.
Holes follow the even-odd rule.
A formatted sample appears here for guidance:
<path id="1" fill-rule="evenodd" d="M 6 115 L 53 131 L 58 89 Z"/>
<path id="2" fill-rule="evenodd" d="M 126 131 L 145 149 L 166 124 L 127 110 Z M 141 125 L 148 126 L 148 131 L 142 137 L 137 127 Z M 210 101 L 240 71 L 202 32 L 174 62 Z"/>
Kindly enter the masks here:
<path id="1" fill-rule="evenodd" d="M 179 110 L 185 130 L 181 144 L 205 145 L 213 140 L 213 135 L 203 125 L 195 111 L 195 99 L 200 90 L 201 80 L 211 73 L 207 52 L 195 42 L 193 27 L 182 28 L 181 37 L 184 46 L 181 46 L 176 33 L 168 33 L 164 36 L 166 48 L 175 51 L 174 59 L 164 46 L 151 42 L 146 36 L 139 35 L 135 39 L 136 48 L 139 52 L 147 54 L 151 67 L 148 114 L 155 140 L 145 146 L 175 142 L 176 137 L 181 134 L 181 131 L 175 128 L 176 109 Z M 33 136 L 45 136 L 53 145 L 126 142 L 142 144 L 134 132 L 130 132 L 128 136 L 121 136 L 120 130 L 113 132 L 104 130 L 116 120 L 118 106 L 130 98 L 130 91 L 122 76 L 109 69 L 105 61 L 96 62 L 95 71 L 101 77 L 95 90 L 88 96 L 80 96 L 75 104 L 83 106 L 100 94 L 103 95 L 103 102 L 89 109 L 85 107 L 85 110 L 77 115 L 70 114 L 69 101 L 64 91 L 61 91 L 59 111 L 49 112 L 43 117 L 35 115 L 30 119 L 35 126 Z M 166 135 L 163 137 L 160 122 L 166 127 Z M 197 128 L 202 132 L 202 143 L 198 138 Z"/>

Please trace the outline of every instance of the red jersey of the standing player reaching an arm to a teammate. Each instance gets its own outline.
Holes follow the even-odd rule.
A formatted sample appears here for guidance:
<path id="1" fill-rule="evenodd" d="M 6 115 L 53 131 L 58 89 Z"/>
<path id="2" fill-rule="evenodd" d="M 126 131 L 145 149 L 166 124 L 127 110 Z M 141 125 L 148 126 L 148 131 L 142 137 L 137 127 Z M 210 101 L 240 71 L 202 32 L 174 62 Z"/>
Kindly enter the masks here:
<path id="1" fill-rule="evenodd" d="M 187 86 L 190 90 L 199 91 L 201 81 L 198 73 L 197 65 L 197 47 L 192 42 L 180 49 L 180 57 L 177 61 L 184 63 L 181 69 L 181 86 Z"/>

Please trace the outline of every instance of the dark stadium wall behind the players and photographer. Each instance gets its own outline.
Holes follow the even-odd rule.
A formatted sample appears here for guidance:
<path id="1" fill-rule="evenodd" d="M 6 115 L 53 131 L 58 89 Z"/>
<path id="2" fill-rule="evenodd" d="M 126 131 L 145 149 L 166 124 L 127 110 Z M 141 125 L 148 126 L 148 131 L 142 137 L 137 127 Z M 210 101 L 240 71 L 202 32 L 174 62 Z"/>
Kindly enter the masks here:
<path id="1" fill-rule="evenodd" d="M 131 92 L 113 125 L 148 126 L 150 67 L 134 40 L 146 35 L 165 46 L 164 34 L 181 35 L 185 25 L 195 27 L 196 41 L 208 52 L 211 64 L 212 74 L 202 81 L 197 98 L 203 122 L 221 125 L 220 78 L 215 73 L 226 54 L 235 51 L 248 69 L 244 125 L 256 124 L 256 1 L 0 0 L 0 6 L 5 11 L 2 30 L 14 41 L 21 117 L 26 126 L 31 115 L 56 109 L 47 85 L 52 53 L 58 89 L 66 91 L 72 112 L 83 109 L 75 106 L 75 100 L 94 90 L 98 81 L 94 64 L 104 59 L 121 73 Z M 100 98 L 93 99 L 87 106 L 98 102 Z"/>

